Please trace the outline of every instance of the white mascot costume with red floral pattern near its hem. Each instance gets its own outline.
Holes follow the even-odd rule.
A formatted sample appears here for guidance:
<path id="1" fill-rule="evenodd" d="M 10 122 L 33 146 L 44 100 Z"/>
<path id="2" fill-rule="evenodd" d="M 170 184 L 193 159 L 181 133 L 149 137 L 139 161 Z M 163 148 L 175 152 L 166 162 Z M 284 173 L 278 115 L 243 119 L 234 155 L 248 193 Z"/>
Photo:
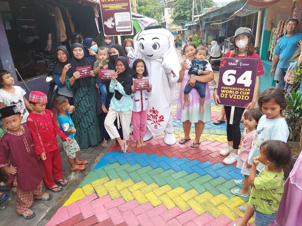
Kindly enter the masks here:
<path id="1" fill-rule="evenodd" d="M 179 63 L 174 49 L 174 36 L 161 26 L 148 27 L 134 37 L 134 48 L 129 47 L 128 57 L 132 66 L 135 59 L 143 59 L 152 84 L 148 102 L 146 135 L 149 140 L 153 134 L 165 132 L 164 142 L 173 145 L 171 107 L 175 100 L 174 87 L 179 79 Z"/>

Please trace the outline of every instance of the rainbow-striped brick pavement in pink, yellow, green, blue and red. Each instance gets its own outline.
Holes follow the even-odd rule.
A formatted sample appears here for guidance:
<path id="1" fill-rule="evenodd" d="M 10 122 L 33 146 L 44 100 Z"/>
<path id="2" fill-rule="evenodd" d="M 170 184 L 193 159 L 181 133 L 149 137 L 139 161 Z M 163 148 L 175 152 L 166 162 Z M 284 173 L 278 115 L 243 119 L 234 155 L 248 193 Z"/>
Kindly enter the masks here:
<path id="1" fill-rule="evenodd" d="M 178 92 L 176 87 L 174 118 Z M 211 104 L 216 120 L 221 107 Z M 238 206 L 247 198 L 231 194 L 234 179 L 243 177 L 219 155 L 227 145 L 226 123 L 206 123 L 196 149 L 190 148 L 194 128 L 192 140 L 180 145 L 182 124 L 173 125 L 172 146 L 154 136 L 142 149 L 131 140 L 123 154 L 114 143 L 46 225 L 232 225 L 243 216 Z"/>

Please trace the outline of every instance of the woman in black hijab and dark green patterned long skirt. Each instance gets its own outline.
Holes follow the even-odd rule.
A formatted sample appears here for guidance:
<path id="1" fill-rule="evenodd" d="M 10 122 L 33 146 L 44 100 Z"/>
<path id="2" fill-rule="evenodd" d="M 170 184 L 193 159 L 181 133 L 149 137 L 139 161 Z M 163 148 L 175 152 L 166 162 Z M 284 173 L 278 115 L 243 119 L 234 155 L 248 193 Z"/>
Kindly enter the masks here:
<path id="1" fill-rule="evenodd" d="M 97 145 L 101 141 L 99 121 L 96 116 L 96 75 L 92 70 L 94 61 L 85 59 L 82 44 L 72 44 L 70 49 L 73 54 L 72 67 L 67 72 L 65 85 L 70 91 L 73 91 L 73 103 L 76 107 L 76 111 L 72 114 L 76 127 L 75 139 L 80 148 L 85 149 L 88 146 Z M 80 73 L 80 69 L 83 67 L 90 69 L 82 70 Z M 88 72 L 88 77 L 83 76 L 85 72 Z"/>

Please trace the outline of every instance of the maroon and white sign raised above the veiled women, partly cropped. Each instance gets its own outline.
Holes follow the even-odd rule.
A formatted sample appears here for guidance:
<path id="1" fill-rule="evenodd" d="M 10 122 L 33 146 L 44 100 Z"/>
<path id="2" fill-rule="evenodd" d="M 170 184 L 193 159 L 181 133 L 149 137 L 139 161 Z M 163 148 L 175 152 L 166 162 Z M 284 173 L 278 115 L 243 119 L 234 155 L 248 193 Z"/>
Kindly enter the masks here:
<path id="1" fill-rule="evenodd" d="M 105 36 L 132 35 L 132 15 L 130 0 L 100 0 Z"/>

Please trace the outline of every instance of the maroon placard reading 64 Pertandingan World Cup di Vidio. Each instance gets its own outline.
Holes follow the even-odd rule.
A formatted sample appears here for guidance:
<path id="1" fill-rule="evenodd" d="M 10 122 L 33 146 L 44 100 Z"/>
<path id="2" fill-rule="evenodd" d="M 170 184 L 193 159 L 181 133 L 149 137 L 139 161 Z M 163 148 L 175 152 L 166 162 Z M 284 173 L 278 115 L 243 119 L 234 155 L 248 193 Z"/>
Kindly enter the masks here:
<path id="1" fill-rule="evenodd" d="M 247 107 L 252 101 L 259 59 L 222 58 L 217 94 L 220 104 Z"/>

